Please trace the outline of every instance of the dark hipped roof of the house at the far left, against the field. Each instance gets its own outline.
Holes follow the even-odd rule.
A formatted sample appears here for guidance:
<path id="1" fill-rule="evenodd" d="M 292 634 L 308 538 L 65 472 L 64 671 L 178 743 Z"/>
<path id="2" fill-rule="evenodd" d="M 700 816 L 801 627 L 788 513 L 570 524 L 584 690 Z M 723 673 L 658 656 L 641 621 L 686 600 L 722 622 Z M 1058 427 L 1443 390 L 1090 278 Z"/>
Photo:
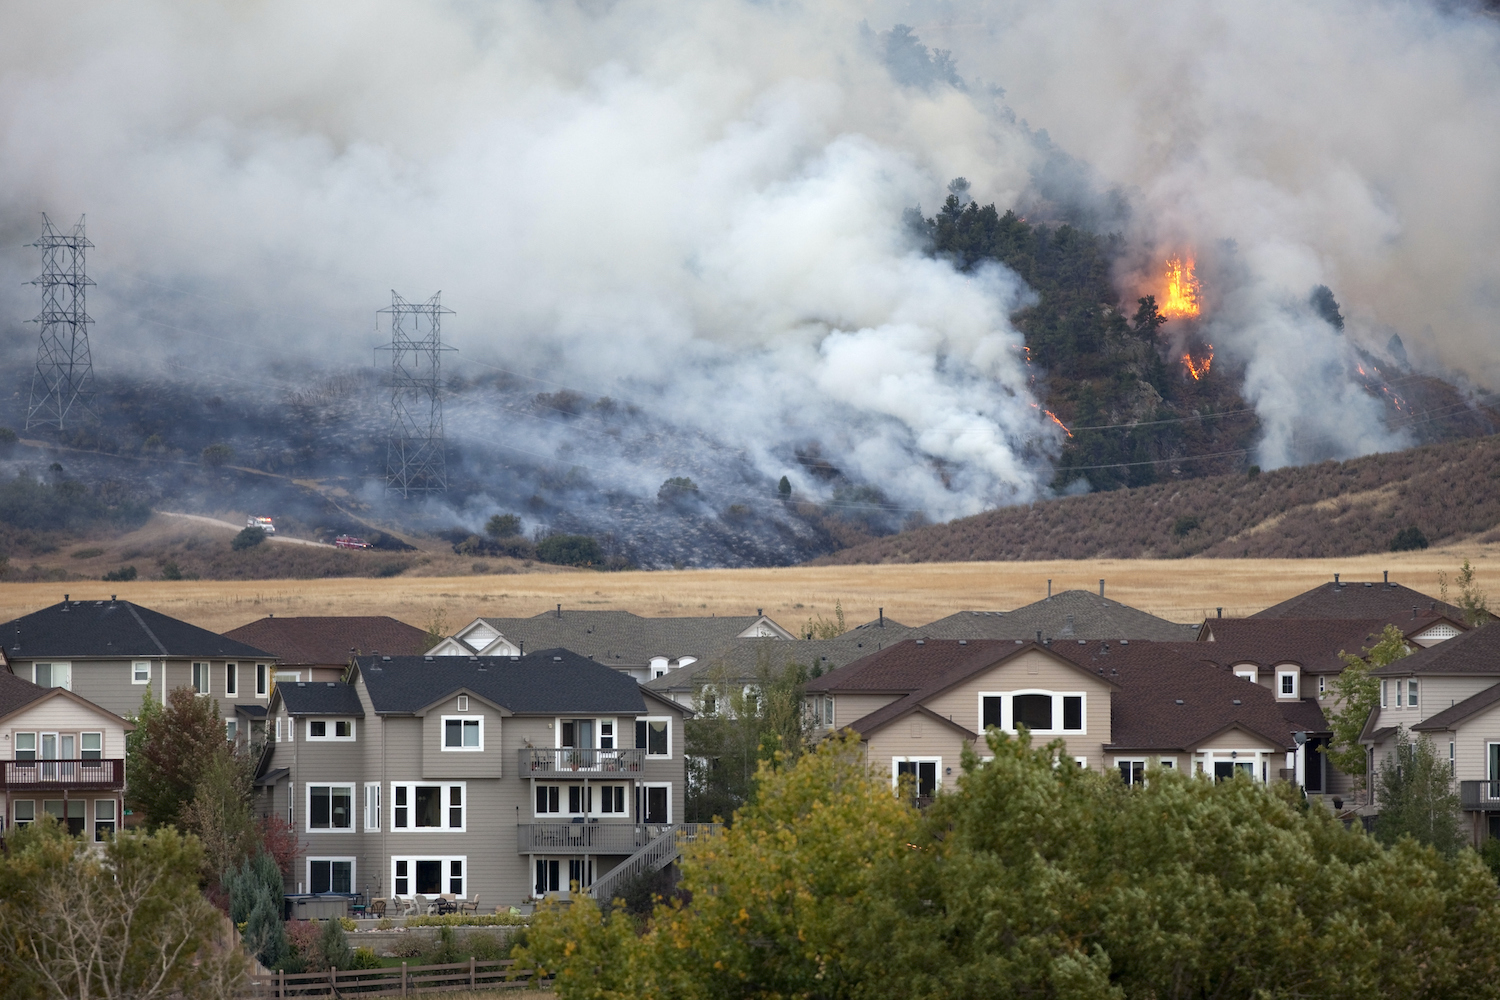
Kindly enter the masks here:
<path id="1" fill-rule="evenodd" d="M 276 657 L 130 601 L 64 601 L 0 625 L 10 660 L 88 657 Z"/>

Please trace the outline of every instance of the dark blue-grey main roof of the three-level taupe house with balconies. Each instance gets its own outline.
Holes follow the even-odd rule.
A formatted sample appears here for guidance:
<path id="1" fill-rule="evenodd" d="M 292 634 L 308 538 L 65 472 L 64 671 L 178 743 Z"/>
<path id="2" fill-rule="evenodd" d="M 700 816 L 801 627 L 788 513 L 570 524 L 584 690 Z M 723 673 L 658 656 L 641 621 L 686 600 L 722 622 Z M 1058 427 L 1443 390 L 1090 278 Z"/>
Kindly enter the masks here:
<path id="1" fill-rule="evenodd" d="M 567 649 L 525 657 L 358 657 L 380 715 L 418 712 L 450 691 L 468 690 L 516 714 L 645 712 L 628 675 Z"/>

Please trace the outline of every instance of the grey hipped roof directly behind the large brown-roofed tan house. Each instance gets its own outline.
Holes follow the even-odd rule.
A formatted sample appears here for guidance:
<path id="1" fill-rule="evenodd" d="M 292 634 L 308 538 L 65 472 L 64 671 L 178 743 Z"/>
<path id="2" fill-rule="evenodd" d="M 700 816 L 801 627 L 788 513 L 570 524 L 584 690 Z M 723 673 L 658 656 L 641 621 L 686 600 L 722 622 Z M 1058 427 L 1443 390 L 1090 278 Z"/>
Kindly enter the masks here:
<path id="1" fill-rule="evenodd" d="M 1198 625 L 1156 618 L 1089 591 L 1062 591 L 1012 612 L 958 612 L 914 630 L 932 639 L 1149 639 L 1186 642 Z"/>

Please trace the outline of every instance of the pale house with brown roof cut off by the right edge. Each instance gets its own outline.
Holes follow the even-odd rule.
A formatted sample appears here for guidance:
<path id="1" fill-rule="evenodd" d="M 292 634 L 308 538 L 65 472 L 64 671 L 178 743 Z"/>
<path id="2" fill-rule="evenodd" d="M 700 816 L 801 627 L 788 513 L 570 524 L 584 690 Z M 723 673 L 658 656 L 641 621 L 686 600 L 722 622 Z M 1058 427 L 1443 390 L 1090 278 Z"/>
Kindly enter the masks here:
<path id="1" fill-rule="evenodd" d="M 1473 843 L 1500 837 L 1500 628 L 1473 628 L 1371 675 L 1380 706 L 1360 738 L 1370 772 L 1389 766 L 1398 732 L 1428 736 L 1448 757 Z"/>

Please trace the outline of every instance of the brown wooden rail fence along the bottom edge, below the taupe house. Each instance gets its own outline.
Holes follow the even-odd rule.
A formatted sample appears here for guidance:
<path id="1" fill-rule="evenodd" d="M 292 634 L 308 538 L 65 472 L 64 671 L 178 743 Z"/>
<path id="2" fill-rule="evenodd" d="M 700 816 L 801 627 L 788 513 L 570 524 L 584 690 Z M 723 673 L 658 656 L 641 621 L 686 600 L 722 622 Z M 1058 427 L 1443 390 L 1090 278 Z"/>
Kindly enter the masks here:
<path id="1" fill-rule="evenodd" d="M 356 972 L 285 973 L 250 976 L 249 997 L 408 997 L 420 993 L 458 990 L 525 990 L 537 981 L 514 960 L 453 963 L 452 966 L 406 966 Z"/>

